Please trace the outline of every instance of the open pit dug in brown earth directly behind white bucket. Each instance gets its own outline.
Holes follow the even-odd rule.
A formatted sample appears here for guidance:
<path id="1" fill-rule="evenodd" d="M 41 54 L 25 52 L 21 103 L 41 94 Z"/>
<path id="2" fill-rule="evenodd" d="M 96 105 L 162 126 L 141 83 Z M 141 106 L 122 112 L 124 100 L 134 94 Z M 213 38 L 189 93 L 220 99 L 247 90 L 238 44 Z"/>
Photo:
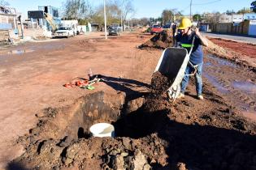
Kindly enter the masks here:
<path id="1" fill-rule="evenodd" d="M 70 108 L 47 108 L 30 134 L 36 136 L 33 138 L 44 136 L 62 141 L 67 138 L 90 138 L 89 127 L 106 122 L 115 126 L 115 136 L 141 136 L 145 130 L 137 125 L 141 125 L 143 120 L 152 121 L 139 109 L 144 98 L 137 97 L 132 101 L 125 101 L 124 98 L 124 93 L 112 96 L 99 91 L 81 98 Z"/>

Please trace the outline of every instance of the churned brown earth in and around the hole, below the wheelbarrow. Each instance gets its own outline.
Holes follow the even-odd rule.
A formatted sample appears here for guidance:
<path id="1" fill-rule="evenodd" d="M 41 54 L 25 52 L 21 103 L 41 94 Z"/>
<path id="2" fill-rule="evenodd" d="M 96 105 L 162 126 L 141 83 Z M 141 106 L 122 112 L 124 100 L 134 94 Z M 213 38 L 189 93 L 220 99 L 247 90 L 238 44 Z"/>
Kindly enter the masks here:
<path id="1" fill-rule="evenodd" d="M 147 93 L 98 91 L 65 108 L 47 108 L 20 137 L 26 152 L 9 168 L 255 169 L 255 123 L 239 116 L 210 83 L 205 100 L 197 100 L 193 82 L 175 103 L 152 80 Z M 115 126 L 115 138 L 90 136 L 90 125 L 101 121 Z"/>

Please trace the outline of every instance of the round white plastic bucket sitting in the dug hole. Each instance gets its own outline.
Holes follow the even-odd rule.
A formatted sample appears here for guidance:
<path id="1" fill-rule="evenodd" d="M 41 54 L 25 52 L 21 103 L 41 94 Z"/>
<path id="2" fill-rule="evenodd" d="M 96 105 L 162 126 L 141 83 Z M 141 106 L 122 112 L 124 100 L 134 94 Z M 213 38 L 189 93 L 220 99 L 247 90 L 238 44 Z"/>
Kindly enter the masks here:
<path id="1" fill-rule="evenodd" d="M 94 137 L 115 137 L 115 127 L 109 123 L 97 123 L 89 128 Z"/>

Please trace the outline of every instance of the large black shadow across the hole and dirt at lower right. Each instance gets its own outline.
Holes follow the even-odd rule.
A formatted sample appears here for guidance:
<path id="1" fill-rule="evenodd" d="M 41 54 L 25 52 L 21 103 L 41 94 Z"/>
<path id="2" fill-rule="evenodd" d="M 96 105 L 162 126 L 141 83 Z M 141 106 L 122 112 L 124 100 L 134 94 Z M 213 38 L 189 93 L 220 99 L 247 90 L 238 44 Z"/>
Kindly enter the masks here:
<path id="1" fill-rule="evenodd" d="M 169 166 L 155 164 L 154 169 L 170 169 L 178 163 L 189 169 L 256 169 L 256 136 L 197 123 L 185 125 L 171 121 L 169 110 L 145 110 L 142 107 L 114 125 L 119 137 L 143 138 L 157 133 L 168 143 Z"/>

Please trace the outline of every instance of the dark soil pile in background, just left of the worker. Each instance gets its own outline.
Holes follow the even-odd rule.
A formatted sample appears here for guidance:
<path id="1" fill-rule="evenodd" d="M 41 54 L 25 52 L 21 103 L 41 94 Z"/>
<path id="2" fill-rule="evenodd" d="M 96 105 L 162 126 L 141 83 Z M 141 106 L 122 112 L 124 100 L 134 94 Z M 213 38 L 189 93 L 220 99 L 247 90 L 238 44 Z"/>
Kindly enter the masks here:
<path id="1" fill-rule="evenodd" d="M 160 32 L 154 35 L 150 40 L 145 41 L 142 45 L 138 46 L 138 49 L 155 48 L 155 49 L 166 49 L 172 45 L 172 34 L 171 31 Z"/>

